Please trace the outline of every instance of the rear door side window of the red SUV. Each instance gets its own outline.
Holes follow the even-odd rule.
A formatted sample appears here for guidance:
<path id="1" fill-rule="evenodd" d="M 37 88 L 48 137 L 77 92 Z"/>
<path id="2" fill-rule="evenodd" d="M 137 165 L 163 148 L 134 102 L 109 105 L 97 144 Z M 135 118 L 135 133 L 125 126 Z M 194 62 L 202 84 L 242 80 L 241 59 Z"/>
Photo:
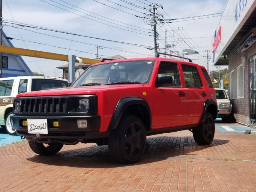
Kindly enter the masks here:
<path id="1" fill-rule="evenodd" d="M 202 88 L 202 82 L 195 66 L 182 64 L 182 70 L 187 88 Z"/>

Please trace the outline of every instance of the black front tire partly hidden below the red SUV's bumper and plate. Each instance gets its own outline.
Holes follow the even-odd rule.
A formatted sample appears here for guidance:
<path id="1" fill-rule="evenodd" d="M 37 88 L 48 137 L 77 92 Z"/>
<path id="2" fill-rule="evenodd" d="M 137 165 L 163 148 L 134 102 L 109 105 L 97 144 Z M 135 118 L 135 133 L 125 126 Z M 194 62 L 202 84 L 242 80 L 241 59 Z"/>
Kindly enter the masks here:
<path id="1" fill-rule="evenodd" d="M 63 144 L 60 142 L 49 143 L 46 144 L 48 146 L 44 146 L 45 144 L 38 143 L 32 140 L 28 141 L 28 144 L 32 151 L 34 151 L 38 155 L 54 155 L 58 153 L 63 147 Z"/>

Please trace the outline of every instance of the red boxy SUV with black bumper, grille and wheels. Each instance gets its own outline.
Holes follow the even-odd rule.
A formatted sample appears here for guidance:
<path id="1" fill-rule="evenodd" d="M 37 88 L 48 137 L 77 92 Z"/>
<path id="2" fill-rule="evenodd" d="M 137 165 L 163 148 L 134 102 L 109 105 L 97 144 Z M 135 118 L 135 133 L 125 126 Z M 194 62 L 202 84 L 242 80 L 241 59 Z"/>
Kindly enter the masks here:
<path id="1" fill-rule="evenodd" d="M 12 128 L 36 154 L 92 142 L 125 164 L 142 157 L 147 135 L 190 130 L 210 144 L 216 93 L 206 69 L 188 61 L 158 54 L 93 64 L 69 88 L 18 94 Z"/>

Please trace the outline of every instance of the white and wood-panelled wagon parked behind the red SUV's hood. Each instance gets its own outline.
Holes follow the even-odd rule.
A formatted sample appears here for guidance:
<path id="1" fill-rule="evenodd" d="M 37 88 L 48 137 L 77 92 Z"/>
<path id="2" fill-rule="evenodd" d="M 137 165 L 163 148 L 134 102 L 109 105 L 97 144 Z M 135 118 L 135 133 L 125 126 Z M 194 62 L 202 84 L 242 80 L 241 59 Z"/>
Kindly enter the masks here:
<path id="1" fill-rule="evenodd" d="M 19 76 L 0 78 L 0 125 L 10 135 L 16 130 L 10 125 L 14 98 L 19 93 L 68 87 L 68 81 L 61 78 L 42 76 Z"/>

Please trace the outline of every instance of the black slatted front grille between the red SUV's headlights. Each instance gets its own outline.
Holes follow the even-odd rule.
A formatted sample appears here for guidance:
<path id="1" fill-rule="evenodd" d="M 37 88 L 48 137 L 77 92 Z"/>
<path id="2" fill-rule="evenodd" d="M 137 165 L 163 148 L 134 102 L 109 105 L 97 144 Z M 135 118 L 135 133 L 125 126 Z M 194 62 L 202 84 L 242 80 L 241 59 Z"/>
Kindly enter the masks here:
<path id="1" fill-rule="evenodd" d="M 21 100 L 21 114 L 66 114 L 66 97 L 24 98 Z"/>

